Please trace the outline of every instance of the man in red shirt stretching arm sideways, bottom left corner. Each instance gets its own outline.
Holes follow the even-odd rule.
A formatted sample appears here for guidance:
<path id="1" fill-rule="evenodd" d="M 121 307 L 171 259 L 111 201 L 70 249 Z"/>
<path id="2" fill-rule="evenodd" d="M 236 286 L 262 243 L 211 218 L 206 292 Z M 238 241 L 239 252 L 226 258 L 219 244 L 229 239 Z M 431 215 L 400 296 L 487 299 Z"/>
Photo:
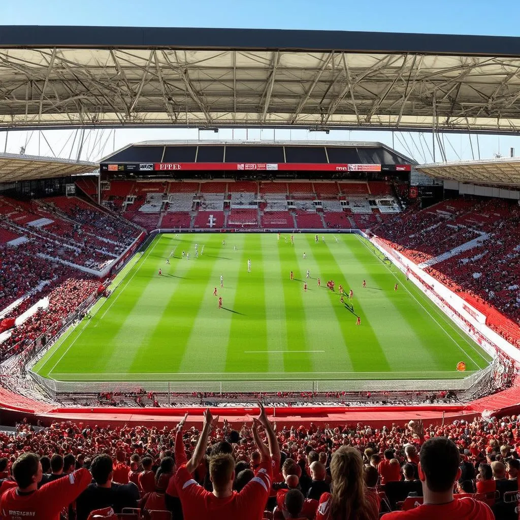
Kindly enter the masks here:
<path id="1" fill-rule="evenodd" d="M 90 472 L 81 469 L 58 478 L 37 489 L 43 472 L 40 459 L 34 453 L 24 453 L 12 465 L 18 487 L 11 487 L 0 497 L 2 520 L 22 517 L 58 520 L 60 512 L 86 489 L 92 480 Z"/>

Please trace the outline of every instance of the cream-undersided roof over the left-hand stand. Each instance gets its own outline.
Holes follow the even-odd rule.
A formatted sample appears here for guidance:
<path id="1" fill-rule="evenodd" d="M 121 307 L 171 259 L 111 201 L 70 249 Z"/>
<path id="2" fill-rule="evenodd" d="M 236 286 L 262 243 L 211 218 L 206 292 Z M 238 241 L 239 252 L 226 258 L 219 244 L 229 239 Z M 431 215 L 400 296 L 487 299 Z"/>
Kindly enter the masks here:
<path id="1" fill-rule="evenodd" d="M 96 168 L 97 164 L 85 161 L 0 153 L 0 183 L 80 175 Z"/>

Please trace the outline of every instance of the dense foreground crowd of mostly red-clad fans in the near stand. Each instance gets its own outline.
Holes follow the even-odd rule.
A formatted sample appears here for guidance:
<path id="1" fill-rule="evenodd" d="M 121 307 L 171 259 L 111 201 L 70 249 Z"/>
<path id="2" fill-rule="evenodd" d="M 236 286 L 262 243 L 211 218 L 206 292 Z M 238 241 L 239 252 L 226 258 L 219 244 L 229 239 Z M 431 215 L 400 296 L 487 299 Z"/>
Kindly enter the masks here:
<path id="1" fill-rule="evenodd" d="M 368 520 L 410 508 L 418 508 L 413 517 L 430 517 L 434 508 L 436 514 L 451 518 L 448 513 L 454 507 L 460 520 L 517 518 L 520 425 L 515 415 L 477 415 L 473 420 L 438 425 L 411 420 L 403 426 L 382 428 L 369 423 L 302 425 L 296 421 L 276 428 L 263 411 L 253 424 L 236 425 L 226 419 L 214 420 L 212 412 L 222 410 L 206 410 L 202 429 L 200 415 L 190 415 L 190 422 L 184 424 L 185 417 L 178 428 L 102 427 L 71 421 L 34 428 L 24 420 L 15 431 L 0 433 L 0 478 L 4 478 L 0 503 L 14 500 L 17 481 L 22 490 L 27 488 L 22 475 L 32 482 L 31 471 L 36 469 L 21 464 L 32 452 L 38 458 L 51 459 L 50 464 L 42 459 L 42 482 L 57 479 L 59 483 L 60 475 L 72 474 L 62 482 L 76 483 L 75 492 L 54 506 L 59 511 L 71 505 L 79 520 L 101 507 L 97 485 L 106 479 L 99 476 L 101 467 L 106 467 L 107 474 L 113 470 L 113 483 L 108 481 L 109 489 L 103 495 L 111 492 L 119 497 L 111 504 L 110 514 L 137 508 L 132 511 L 140 518 L 154 503 L 173 518 L 183 514 L 192 518 L 193 511 L 198 511 L 198 518 L 209 517 L 205 503 L 211 503 L 212 515 L 224 514 L 229 499 L 218 498 L 219 488 L 214 490 L 212 482 L 219 482 L 219 470 L 225 464 L 235 470 L 235 480 L 225 477 L 229 490 L 239 493 L 233 498 L 235 518 L 251 518 L 253 511 L 259 518 L 285 518 L 288 511 L 296 511 L 288 516 L 293 518 L 335 518 L 330 512 L 331 498 L 343 507 L 352 504 L 353 511 L 365 511 L 363 518 Z M 197 444 L 202 449 L 192 451 Z M 91 474 L 94 484 L 90 484 Z M 433 475 L 436 487 L 430 480 Z M 441 491 L 439 482 L 443 483 Z M 49 484 L 35 483 L 34 489 L 44 492 L 46 486 Z M 338 494 L 343 486 L 346 491 Z M 430 505 L 423 506 L 426 490 Z M 192 492 L 203 495 L 204 500 L 189 499 Z M 256 499 L 245 501 L 251 493 Z M 18 504 L 18 509 L 23 507 Z M 401 517 L 408 516 L 395 516 Z"/>

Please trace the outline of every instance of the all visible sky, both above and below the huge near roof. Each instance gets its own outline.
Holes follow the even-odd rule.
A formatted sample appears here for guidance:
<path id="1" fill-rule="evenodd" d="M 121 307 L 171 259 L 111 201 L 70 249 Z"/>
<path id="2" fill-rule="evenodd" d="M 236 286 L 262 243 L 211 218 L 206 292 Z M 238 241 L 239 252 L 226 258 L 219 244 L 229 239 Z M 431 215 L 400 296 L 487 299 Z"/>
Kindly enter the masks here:
<path id="1" fill-rule="evenodd" d="M 24 0 L 22 4 L 5 2 L 2 6 L 0 23 L 6 25 L 138 25 L 149 27 L 238 27 L 267 29 L 318 29 L 382 32 L 417 32 L 441 34 L 486 34 L 518 35 L 520 2 L 511 0 L 437 0 L 436 2 L 372 0 L 371 2 L 351 2 L 348 0 L 89 0 L 74 2 L 64 0 Z M 391 34 L 388 36 L 391 38 Z M 21 146 L 27 153 L 43 155 L 53 153 L 68 157 L 70 145 L 66 144 L 70 132 L 45 132 L 53 152 L 37 133 L 10 132 L 7 151 L 18 153 Z M 268 139 L 272 131 L 262 133 Z M 397 135 L 397 134 L 396 134 Z M 245 132 L 235 133 L 235 138 L 244 138 Z M 96 160 L 110 152 L 112 147 L 120 148 L 128 142 L 148 139 L 197 138 L 197 131 L 176 131 L 168 129 L 121 129 L 107 141 L 101 150 L 98 146 L 86 147 L 82 159 Z M 204 136 L 207 138 L 207 136 Z M 211 137 L 230 139 L 230 131 L 220 131 Z M 259 139 L 259 131 L 251 131 L 249 139 Z M 278 139 L 353 139 L 378 140 L 392 145 L 392 134 L 388 132 L 339 131 L 324 134 L 308 134 L 306 131 L 277 131 Z M 431 143 L 431 135 L 425 135 Z M 431 161 L 431 152 L 422 153 L 417 134 L 412 139 L 409 133 L 394 138 L 395 148 L 413 155 L 422 162 Z M 104 139 L 98 139 L 104 140 Z M 96 136 L 92 135 L 92 144 Z M 70 140 L 72 142 L 72 140 Z M 39 144 L 38 144 L 39 143 Z M 495 153 L 509 154 L 515 148 L 520 154 L 520 138 L 516 136 L 483 136 L 479 138 L 480 156 L 490 158 Z M 5 132 L 0 132 L 0 151 L 4 151 Z M 476 155 L 476 141 L 473 140 Z M 467 136 L 450 135 L 445 137 L 448 159 L 471 159 L 471 146 Z M 60 153 L 61 150 L 61 153 Z M 421 150 L 421 151 L 419 151 Z M 437 160 L 439 159 L 437 155 Z"/>

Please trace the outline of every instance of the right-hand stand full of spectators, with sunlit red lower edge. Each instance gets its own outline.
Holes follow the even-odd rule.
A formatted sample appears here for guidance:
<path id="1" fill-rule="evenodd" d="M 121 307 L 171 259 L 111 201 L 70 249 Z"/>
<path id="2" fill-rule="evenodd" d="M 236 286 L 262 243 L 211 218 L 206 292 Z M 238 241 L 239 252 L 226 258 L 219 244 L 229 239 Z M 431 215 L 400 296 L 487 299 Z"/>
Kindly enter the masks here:
<path id="1" fill-rule="evenodd" d="M 519 224 L 513 202 L 466 198 L 388 217 L 371 231 L 482 309 L 490 327 L 520 346 Z"/>

